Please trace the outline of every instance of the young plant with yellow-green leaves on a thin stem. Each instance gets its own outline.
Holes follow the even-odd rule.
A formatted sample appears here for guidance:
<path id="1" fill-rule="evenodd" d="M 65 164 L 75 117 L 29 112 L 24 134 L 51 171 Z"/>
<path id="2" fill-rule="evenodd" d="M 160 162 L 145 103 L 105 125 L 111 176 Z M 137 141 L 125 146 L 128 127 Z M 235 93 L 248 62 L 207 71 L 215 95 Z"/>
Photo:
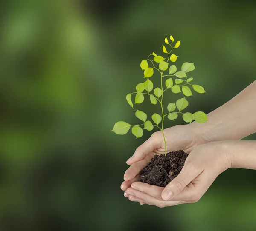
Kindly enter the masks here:
<path id="1" fill-rule="evenodd" d="M 157 103 L 160 104 L 161 115 L 154 113 L 151 116 L 153 122 L 155 123 L 153 124 L 150 120 L 147 120 L 147 114 L 145 114 L 143 111 L 136 110 L 135 116 L 138 119 L 143 121 L 142 124 L 130 125 L 129 123 L 119 121 L 114 125 L 113 129 L 111 130 L 116 134 L 124 135 L 132 127 L 131 128 L 132 134 L 134 134 L 136 138 L 139 138 L 143 136 L 143 129 L 152 131 L 154 127 L 157 127 L 162 131 L 162 134 L 163 134 L 163 140 L 165 143 L 165 155 L 166 155 L 166 139 L 163 132 L 163 123 L 164 123 L 164 118 L 166 116 L 169 120 L 175 120 L 177 119 L 178 114 L 182 114 L 182 118 L 186 123 L 191 123 L 193 120 L 195 120 L 198 123 L 205 123 L 208 120 L 207 115 L 202 111 L 197 111 L 194 114 L 190 112 L 185 112 L 185 113 L 182 112 L 189 105 L 189 102 L 186 100 L 186 97 L 192 96 L 192 91 L 189 88 L 189 86 L 192 86 L 194 91 L 201 94 L 205 93 L 206 91 L 204 91 L 204 88 L 202 86 L 190 83 L 193 80 L 193 78 L 192 77 L 188 78 L 187 73 L 195 69 L 194 63 L 187 63 L 187 62 L 183 63 L 183 65 L 181 66 L 181 71 L 177 71 L 177 67 L 175 65 L 171 65 L 169 67 L 169 61 L 171 61 L 172 63 L 175 63 L 175 61 L 178 58 L 177 55 L 171 54 L 172 50 L 180 46 L 180 41 L 177 41 L 175 43 L 175 46 L 172 46 L 172 43 L 174 43 L 174 38 L 172 36 L 170 36 L 170 40 L 172 41 L 171 43 L 169 43 L 169 40 L 167 39 L 167 37 L 164 40 L 165 43 L 168 46 L 170 46 L 169 49 L 167 49 L 166 46 L 163 45 L 163 53 L 166 54 L 167 60 L 166 58 L 160 55 L 157 55 L 154 52 L 148 56 L 147 60 L 142 60 L 142 62 L 140 63 L 140 67 L 142 70 L 144 70 L 144 78 L 147 78 L 147 80 L 144 83 L 139 83 L 136 86 L 136 92 L 130 93 L 126 96 L 126 100 L 128 104 L 132 108 L 134 108 L 134 104 L 131 100 L 131 97 L 133 94 L 135 94 L 135 100 L 134 100 L 135 104 L 143 103 L 144 96 L 148 95 L 150 98 L 151 104 L 157 104 Z M 153 60 L 151 60 L 150 57 L 152 57 Z M 157 64 L 159 68 L 156 67 Z M 151 65 L 151 67 L 149 65 Z M 168 74 L 167 73 L 164 74 L 165 71 L 168 70 L 168 68 L 169 68 Z M 154 84 L 149 78 L 153 76 L 154 71 L 157 71 L 160 73 L 161 88 L 157 87 L 153 91 Z M 168 78 L 170 76 L 173 76 L 175 80 L 173 81 L 172 78 Z M 163 81 L 165 77 L 167 79 L 165 80 L 166 88 L 164 89 Z M 171 89 L 171 91 L 174 94 L 183 93 L 186 97 L 178 99 L 176 103 L 169 103 L 167 106 L 168 113 L 164 114 L 163 95 L 164 95 L 164 92 L 169 89 Z M 150 94 L 151 91 L 154 92 L 154 95 Z M 141 128 L 141 126 L 144 126 L 144 128 Z"/>

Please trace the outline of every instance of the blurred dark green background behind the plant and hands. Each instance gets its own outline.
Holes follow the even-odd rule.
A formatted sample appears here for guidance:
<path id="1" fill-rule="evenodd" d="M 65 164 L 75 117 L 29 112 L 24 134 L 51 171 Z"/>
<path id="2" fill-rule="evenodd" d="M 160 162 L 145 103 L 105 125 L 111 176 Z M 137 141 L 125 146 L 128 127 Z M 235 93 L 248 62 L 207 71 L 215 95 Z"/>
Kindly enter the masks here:
<path id="1" fill-rule="evenodd" d="M 189 76 L 208 92 L 190 99 L 193 111 L 252 83 L 255 12 L 253 0 L 2 0 L 0 230 L 255 230 L 256 171 L 224 172 L 195 204 L 140 206 L 120 184 L 151 133 L 109 132 L 138 122 L 125 96 L 166 35 L 181 40 L 177 66 L 195 62 Z"/>

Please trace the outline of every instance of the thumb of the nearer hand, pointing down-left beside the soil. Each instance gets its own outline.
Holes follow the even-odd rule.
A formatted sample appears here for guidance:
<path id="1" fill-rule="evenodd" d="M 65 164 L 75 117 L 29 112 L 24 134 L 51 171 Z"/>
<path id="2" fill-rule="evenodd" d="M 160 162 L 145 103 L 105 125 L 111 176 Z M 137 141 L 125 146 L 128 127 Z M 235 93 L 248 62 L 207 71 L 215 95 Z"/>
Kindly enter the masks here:
<path id="1" fill-rule="evenodd" d="M 185 164 L 180 174 L 175 177 L 163 190 L 163 200 L 171 200 L 177 196 L 192 180 L 199 175 L 198 171 L 189 164 Z"/>

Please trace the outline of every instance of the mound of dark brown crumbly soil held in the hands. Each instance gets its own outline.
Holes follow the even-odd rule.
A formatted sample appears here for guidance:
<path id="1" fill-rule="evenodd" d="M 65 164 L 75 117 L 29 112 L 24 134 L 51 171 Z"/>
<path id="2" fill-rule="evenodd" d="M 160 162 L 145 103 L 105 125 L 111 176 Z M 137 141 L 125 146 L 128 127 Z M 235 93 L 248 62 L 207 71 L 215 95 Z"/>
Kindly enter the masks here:
<path id="1" fill-rule="evenodd" d="M 166 187 L 184 166 L 188 154 L 182 150 L 170 151 L 165 155 L 155 155 L 140 172 L 140 182 Z"/>

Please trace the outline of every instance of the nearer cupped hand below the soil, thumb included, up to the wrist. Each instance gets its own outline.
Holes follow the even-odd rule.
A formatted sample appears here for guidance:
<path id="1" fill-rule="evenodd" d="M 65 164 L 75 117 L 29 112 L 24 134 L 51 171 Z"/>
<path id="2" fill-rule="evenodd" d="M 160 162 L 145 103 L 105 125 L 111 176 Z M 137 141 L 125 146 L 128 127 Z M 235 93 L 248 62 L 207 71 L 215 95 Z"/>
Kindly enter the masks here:
<path id="1" fill-rule="evenodd" d="M 231 142 L 199 145 L 191 151 L 180 174 L 166 188 L 134 182 L 125 191 L 125 197 L 141 205 L 156 205 L 160 208 L 197 202 L 216 177 L 231 167 L 227 148 Z"/>

